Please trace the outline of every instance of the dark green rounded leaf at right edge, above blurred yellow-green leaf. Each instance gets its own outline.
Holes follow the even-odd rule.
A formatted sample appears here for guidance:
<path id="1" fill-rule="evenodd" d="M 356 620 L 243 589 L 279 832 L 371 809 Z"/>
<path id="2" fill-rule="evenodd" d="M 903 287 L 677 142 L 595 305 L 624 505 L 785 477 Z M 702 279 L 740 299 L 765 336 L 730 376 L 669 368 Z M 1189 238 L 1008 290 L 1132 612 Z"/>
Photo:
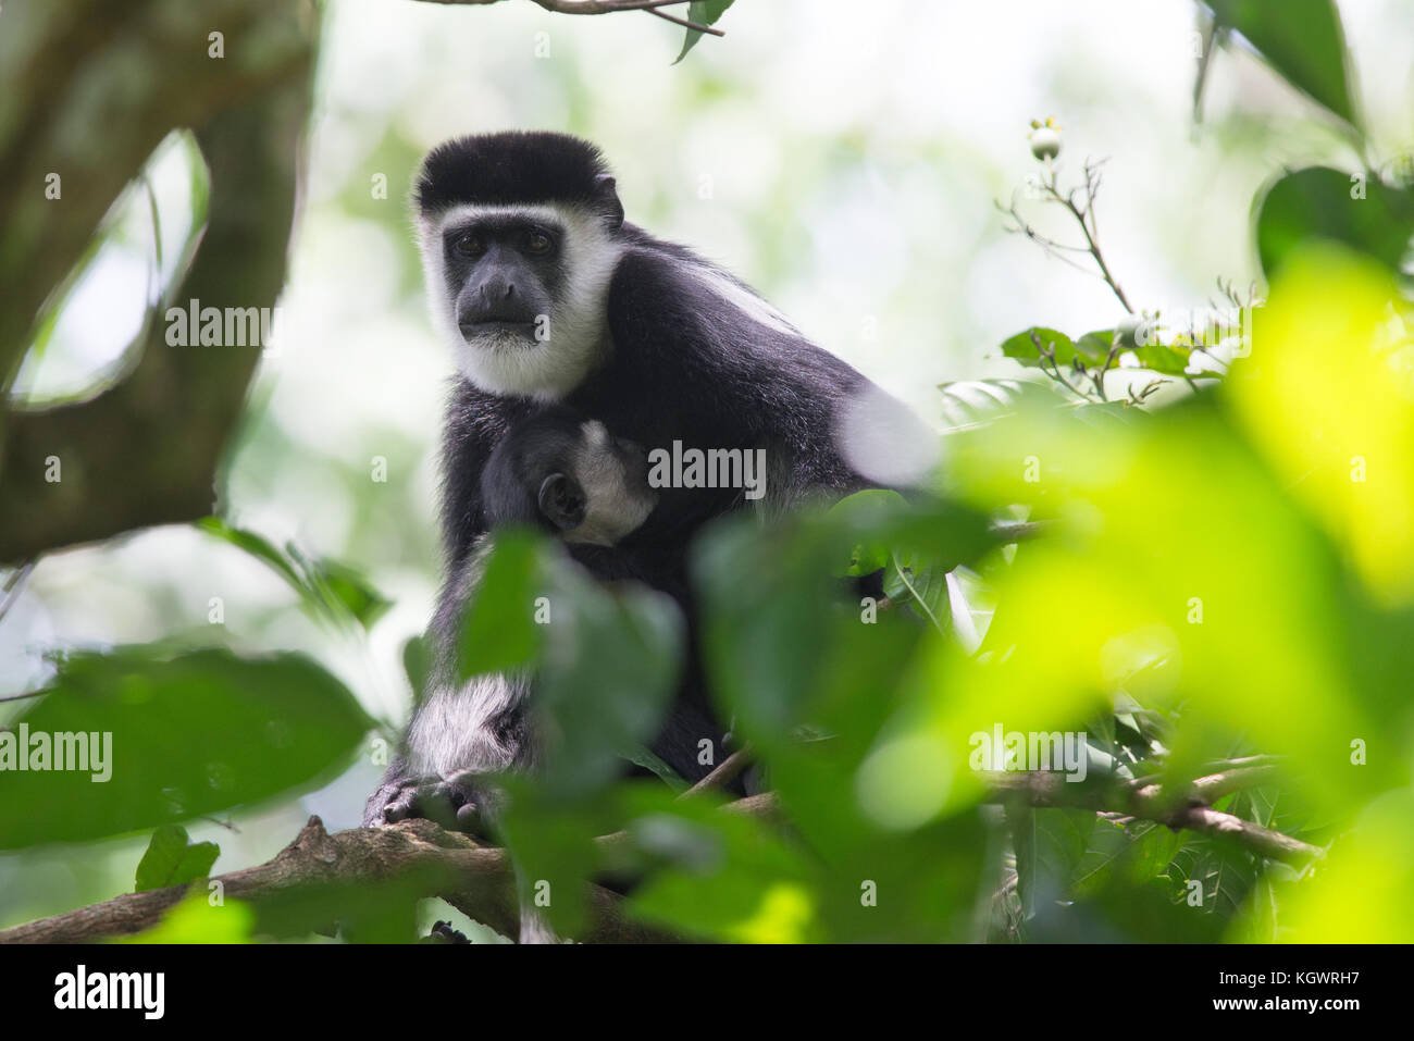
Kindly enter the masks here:
<path id="1" fill-rule="evenodd" d="M 1261 194 L 1257 253 L 1268 279 L 1311 239 L 1340 242 L 1398 270 L 1414 236 L 1414 192 L 1373 174 L 1363 177 L 1362 182 L 1339 170 L 1308 167 L 1280 177 Z"/>

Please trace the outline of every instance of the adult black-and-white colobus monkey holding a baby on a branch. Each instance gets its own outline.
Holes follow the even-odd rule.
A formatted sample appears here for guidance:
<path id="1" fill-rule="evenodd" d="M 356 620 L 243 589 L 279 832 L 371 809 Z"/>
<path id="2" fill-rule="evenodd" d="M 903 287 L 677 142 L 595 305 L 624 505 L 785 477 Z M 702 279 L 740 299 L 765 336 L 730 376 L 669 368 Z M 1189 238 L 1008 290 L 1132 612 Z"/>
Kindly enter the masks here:
<path id="1" fill-rule="evenodd" d="M 748 286 L 626 223 L 614 177 L 585 141 L 554 133 L 447 141 L 423 163 L 414 201 L 433 320 L 460 372 L 444 441 L 448 573 L 440 620 L 460 611 L 468 559 L 492 520 L 486 461 L 516 421 L 547 403 L 570 406 L 649 451 L 674 443 L 684 453 L 764 450 L 771 506 L 899 484 L 906 475 L 888 468 L 898 457 L 881 446 L 916 453 L 926 440 L 902 406 L 809 342 Z M 901 436 L 889 437 L 889 427 Z M 581 559 L 602 574 L 633 554 L 659 554 L 652 567 L 628 570 L 649 570 L 653 584 L 674 591 L 689 536 L 742 505 L 744 494 L 655 491 L 642 526 L 617 549 Z M 440 719 L 444 733 L 436 740 L 488 724 L 484 713 Z M 699 762 L 699 741 L 721 748 L 721 737 L 700 685 L 689 682 L 655 751 L 693 779 L 711 767 Z M 515 727 L 503 727 L 501 738 L 527 740 Z M 414 724 L 407 762 L 436 765 L 445 777 L 451 764 L 420 747 L 431 740 Z M 475 745 L 467 733 L 457 740 Z M 389 818 L 399 791 L 416 779 L 409 769 L 400 762 L 390 771 L 369 801 L 369 822 Z"/>

